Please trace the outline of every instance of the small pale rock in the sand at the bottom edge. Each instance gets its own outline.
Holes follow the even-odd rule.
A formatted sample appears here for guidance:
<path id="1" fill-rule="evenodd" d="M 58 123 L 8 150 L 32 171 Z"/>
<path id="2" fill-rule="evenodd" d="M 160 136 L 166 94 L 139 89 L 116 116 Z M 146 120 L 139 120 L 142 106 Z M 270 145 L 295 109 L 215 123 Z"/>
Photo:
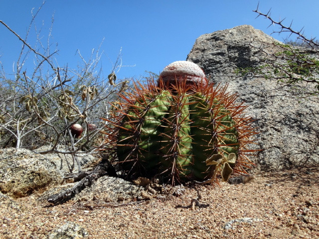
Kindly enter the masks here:
<path id="1" fill-rule="evenodd" d="M 80 239 L 89 237 L 89 233 L 80 225 L 67 222 L 48 235 L 48 239 Z"/>

